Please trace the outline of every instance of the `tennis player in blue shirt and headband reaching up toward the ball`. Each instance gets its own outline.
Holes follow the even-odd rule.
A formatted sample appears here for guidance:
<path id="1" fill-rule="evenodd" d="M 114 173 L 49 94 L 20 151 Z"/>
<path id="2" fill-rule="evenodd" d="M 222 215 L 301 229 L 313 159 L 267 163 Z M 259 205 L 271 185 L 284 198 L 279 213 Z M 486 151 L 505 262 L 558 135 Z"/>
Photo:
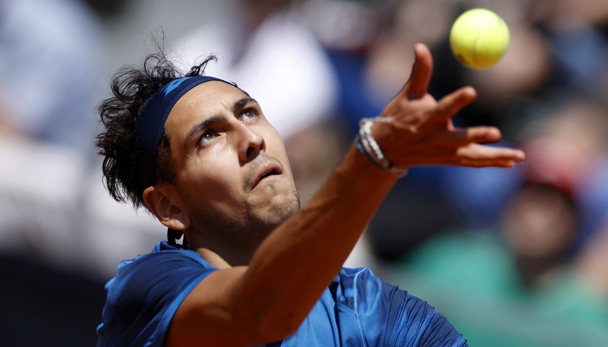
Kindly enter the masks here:
<path id="1" fill-rule="evenodd" d="M 435 100 L 429 49 L 417 44 L 415 56 L 410 80 L 361 121 L 302 208 L 281 137 L 254 98 L 204 76 L 208 60 L 186 75 L 162 53 L 119 70 L 100 106 L 106 186 L 145 206 L 168 240 L 106 284 L 98 346 L 466 346 L 425 301 L 368 269 L 342 268 L 407 168 L 523 160 L 482 144 L 500 139 L 496 128 L 454 128 L 475 90 Z"/>

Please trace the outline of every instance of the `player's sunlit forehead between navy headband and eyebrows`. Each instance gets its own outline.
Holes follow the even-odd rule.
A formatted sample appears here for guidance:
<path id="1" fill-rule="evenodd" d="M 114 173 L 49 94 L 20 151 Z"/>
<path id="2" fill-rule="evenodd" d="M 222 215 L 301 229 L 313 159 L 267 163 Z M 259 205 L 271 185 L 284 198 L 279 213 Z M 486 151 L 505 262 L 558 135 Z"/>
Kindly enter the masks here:
<path id="1" fill-rule="evenodd" d="M 213 115 L 232 112 L 235 101 L 246 97 L 240 89 L 221 81 L 209 81 L 190 89 L 175 103 L 165 128 L 171 138 L 185 136 L 193 125 Z"/>

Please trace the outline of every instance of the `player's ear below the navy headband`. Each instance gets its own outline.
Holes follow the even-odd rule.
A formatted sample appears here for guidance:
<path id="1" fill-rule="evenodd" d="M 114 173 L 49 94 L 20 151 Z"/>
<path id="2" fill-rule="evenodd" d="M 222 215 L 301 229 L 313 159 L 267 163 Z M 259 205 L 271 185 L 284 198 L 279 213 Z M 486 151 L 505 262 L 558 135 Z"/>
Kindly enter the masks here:
<path id="1" fill-rule="evenodd" d="M 185 230 L 190 227 L 190 217 L 171 199 L 167 185 L 148 187 L 143 191 L 143 203 L 165 227 Z"/>

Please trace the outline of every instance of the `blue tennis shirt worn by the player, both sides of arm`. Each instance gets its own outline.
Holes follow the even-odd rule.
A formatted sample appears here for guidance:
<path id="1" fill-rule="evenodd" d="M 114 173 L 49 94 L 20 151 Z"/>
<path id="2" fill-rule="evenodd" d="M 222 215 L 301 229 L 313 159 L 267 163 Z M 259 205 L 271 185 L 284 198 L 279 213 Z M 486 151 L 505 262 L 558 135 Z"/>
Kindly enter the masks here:
<path id="1" fill-rule="evenodd" d="M 215 271 L 193 250 L 159 242 L 120 263 L 108 281 L 97 347 L 161 347 L 190 291 Z M 294 298 L 297 300 L 297 298 Z M 365 268 L 344 268 L 297 332 L 266 346 L 467 346 L 425 301 L 383 283 Z"/>

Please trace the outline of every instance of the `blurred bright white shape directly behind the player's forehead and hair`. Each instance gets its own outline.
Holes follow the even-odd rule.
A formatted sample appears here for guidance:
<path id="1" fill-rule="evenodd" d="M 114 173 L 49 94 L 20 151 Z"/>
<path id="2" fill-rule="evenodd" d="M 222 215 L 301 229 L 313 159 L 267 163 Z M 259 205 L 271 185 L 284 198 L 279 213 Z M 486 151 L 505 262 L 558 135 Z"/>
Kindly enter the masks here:
<path id="1" fill-rule="evenodd" d="M 184 69 L 218 56 L 206 74 L 234 81 L 261 105 L 283 138 L 323 120 L 337 97 L 336 77 L 322 48 L 294 13 L 270 15 L 243 37 L 234 14 L 185 35 Z"/>

